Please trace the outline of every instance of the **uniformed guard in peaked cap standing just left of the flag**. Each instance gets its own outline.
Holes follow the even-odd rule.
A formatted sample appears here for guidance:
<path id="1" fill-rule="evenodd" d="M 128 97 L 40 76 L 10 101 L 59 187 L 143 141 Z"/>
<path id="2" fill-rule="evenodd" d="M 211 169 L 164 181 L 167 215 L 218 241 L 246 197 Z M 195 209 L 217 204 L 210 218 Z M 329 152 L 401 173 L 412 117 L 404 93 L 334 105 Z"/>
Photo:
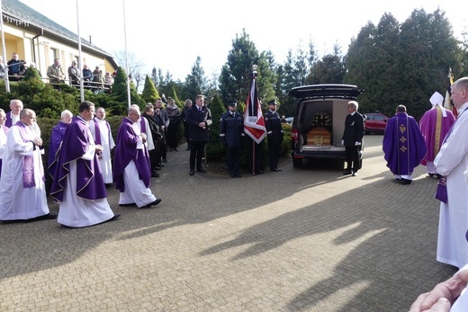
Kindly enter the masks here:
<path id="1" fill-rule="evenodd" d="M 227 151 L 227 163 L 229 175 L 232 178 L 240 177 L 238 168 L 238 156 L 244 133 L 244 119 L 237 110 L 237 101 L 229 101 L 228 111 L 221 115 L 220 120 L 220 139 Z"/>

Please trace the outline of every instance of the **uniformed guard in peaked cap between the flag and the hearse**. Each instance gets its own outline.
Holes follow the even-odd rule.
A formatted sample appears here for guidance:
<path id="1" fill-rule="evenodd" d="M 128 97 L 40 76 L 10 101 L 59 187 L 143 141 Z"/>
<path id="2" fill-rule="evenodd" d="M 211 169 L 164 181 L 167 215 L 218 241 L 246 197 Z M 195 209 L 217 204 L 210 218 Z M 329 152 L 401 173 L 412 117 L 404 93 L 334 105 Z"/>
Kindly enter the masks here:
<path id="1" fill-rule="evenodd" d="M 281 118 L 276 111 L 277 103 L 272 100 L 267 103 L 268 111 L 264 115 L 266 134 L 268 141 L 268 163 L 270 170 L 280 172 L 278 160 L 281 156 L 281 144 L 283 143 L 284 130 L 281 125 Z"/>

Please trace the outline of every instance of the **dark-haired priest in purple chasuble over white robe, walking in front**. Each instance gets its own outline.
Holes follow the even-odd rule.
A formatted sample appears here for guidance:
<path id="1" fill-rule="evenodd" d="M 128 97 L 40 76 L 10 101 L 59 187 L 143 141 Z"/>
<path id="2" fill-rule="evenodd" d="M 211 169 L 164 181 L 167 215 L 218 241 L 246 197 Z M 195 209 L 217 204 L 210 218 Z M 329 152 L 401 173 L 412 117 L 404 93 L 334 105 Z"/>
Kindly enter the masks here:
<path id="1" fill-rule="evenodd" d="M 50 196 L 60 202 L 58 223 L 66 227 L 89 227 L 120 217 L 112 212 L 106 199 L 96 155 L 103 147 L 94 144 L 88 127 L 94 117 L 94 103 L 81 103 L 78 112 L 58 149 L 50 191 Z"/>

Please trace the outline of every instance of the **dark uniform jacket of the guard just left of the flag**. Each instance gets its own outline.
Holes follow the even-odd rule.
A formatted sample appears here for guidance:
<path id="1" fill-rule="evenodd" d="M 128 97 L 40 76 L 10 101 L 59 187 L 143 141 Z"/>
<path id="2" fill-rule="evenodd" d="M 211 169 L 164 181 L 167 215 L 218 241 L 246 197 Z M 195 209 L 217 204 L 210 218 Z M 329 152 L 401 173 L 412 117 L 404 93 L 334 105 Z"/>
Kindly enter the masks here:
<path id="1" fill-rule="evenodd" d="M 220 138 L 226 147 L 240 147 L 244 137 L 244 119 L 237 111 L 225 111 L 220 120 Z"/>

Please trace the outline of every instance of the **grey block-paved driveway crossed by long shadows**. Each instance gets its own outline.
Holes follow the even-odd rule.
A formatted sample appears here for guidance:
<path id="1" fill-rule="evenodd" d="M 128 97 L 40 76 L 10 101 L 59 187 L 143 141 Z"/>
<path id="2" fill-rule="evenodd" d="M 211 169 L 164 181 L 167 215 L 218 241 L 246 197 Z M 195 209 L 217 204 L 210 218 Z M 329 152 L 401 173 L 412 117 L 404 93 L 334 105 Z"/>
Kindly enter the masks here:
<path id="1" fill-rule="evenodd" d="M 118 221 L 0 224 L 0 310 L 406 311 L 455 269 L 436 261 L 437 181 L 419 166 L 394 183 L 382 138 L 366 136 L 357 177 L 290 161 L 190 176 L 181 148 L 153 179 L 157 208 L 112 190 Z"/>

